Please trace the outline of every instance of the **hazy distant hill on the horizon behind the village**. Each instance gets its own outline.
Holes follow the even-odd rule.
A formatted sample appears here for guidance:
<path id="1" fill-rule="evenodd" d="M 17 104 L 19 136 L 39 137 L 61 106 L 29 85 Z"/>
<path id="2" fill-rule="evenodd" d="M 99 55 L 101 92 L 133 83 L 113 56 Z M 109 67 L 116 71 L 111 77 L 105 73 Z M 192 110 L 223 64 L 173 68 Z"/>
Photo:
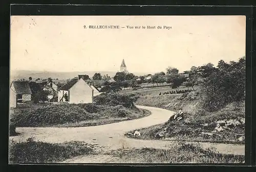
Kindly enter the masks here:
<path id="1" fill-rule="evenodd" d="M 109 76 L 115 76 L 116 72 L 114 71 L 84 71 L 84 72 L 51 72 L 51 71 L 28 71 L 28 70 L 13 70 L 10 73 L 10 79 L 26 79 L 28 80 L 29 77 L 32 79 L 40 78 L 40 79 L 47 79 L 51 77 L 52 79 L 58 78 L 59 80 L 70 79 L 73 77 L 78 76 L 79 74 L 86 74 L 89 75 L 90 78 L 93 77 L 95 73 L 100 73 L 101 75 L 108 74 Z M 135 75 L 145 75 L 144 73 L 134 73 Z"/>

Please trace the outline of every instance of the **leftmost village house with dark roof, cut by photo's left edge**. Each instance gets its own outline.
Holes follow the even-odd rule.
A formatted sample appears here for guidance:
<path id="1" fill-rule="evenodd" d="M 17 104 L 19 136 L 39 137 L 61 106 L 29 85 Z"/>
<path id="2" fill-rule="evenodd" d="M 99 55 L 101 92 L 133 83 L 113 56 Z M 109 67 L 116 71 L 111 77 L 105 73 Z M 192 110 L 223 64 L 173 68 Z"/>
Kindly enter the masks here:
<path id="1" fill-rule="evenodd" d="M 31 95 L 28 81 L 13 81 L 10 87 L 10 107 L 16 107 L 17 102 L 31 101 Z"/>

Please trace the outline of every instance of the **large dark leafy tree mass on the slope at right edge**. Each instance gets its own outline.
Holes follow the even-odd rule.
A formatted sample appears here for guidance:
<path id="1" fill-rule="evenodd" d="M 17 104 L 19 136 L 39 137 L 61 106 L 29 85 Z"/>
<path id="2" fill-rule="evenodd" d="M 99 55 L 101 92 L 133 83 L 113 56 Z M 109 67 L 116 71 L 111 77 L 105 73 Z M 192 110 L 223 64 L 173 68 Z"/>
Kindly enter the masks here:
<path id="1" fill-rule="evenodd" d="M 220 60 L 218 69 L 204 76 L 201 82 L 204 109 L 215 111 L 228 103 L 245 100 L 245 74 L 245 57 L 229 64 Z"/>

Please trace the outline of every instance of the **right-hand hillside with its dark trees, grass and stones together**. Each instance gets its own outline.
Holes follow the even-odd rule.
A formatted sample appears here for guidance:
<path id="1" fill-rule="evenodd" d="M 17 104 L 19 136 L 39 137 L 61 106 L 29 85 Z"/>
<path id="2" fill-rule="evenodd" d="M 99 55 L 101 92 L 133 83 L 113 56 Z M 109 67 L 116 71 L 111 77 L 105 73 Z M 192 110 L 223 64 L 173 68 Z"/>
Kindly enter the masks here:
<path id="1" fill-rule="evenodd" d="M 138 105 L 161 107 L 175 112 L 182 108 L 185 113 L 183 121 L 170 120 L 163 125 L 140 130 L 141 138 L 244 143 L 244 139 L 241 140 L 245 135 L 244 122 L 229 125 L 221 132 L 213 131 L 221 120 L 237 122 L 245 119 L 245 57 L 238 62 L 226 63 L 221 60 L 217 68 L 211 63 L 193 67 L 185 85 L 196 85 L 198 89 L 182 95 L 139 97 L 136 102 Z"/>

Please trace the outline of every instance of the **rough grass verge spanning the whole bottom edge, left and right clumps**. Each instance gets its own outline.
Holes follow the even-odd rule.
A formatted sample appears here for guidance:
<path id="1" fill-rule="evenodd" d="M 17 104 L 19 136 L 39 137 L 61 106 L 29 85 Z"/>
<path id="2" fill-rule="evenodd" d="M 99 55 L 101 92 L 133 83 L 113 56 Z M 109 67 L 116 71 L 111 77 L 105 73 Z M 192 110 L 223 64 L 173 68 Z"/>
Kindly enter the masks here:
<path id="1" fill-rule="evenodd" d="M 115 163 L 243 163 L 244 155 L 226 155 L 214 148 L 203 149 L 200 145 L 176 143 L 169 149 L 129 148 L 97 152 L 96 144 L 79 141 L 46 143 L 29 138 L 27 142 L 10 141 L 9 162 L 59 163 L 81 156 L 104 156 L 115 159 Z M 117 159 L 116 159 L 116 158 Z M 97 162 L 96 162 L 97 163 Z"/>

